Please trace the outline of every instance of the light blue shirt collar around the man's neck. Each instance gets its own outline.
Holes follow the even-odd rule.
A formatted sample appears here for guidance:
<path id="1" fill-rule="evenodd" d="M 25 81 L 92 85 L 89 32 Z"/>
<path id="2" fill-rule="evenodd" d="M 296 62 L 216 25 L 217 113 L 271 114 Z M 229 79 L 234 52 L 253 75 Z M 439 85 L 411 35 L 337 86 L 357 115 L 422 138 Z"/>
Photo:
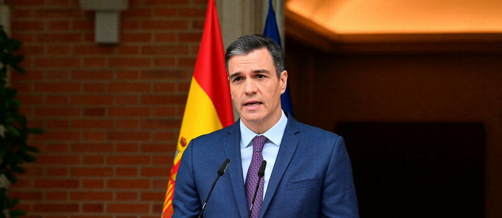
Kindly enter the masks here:
<path id="1" fill-rule="evenodd" d="M 284 114 L 284 111 L 281 110 L 281 115 L 279 121 L 275 123 L 267 132 L 261 134 L 267 137 L 274 145 L 277 147 L 280 145 L 280 142 L 283 140 L 284 130 L 286 129 L 286 124 L 288 124 L 288 118 Z M 258 134 L 254 133 L 253 130 L 249 129 L 246 125 L 244 125 L 243 121 L 240 120 L 240 148 L 244 149 L 248 146 L 251 146 L 251 140 Z"/>

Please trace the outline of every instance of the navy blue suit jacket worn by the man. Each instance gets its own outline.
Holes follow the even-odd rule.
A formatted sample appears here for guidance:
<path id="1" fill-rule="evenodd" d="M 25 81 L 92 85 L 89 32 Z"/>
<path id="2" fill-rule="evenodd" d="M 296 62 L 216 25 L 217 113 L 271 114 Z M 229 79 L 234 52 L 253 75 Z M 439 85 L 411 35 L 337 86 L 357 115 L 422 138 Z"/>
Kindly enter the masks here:
<path id="1" fill-rule="evenodd" d="M 172 217 L 198 215 L 216 171 L 227 158 L 230 164 L 203 215 L 247 217 L 239 144 L 239 121 L 190 141 L 176 176 Z M 358 217 L 343 138 L 288 115 L 260 217 Z"/>

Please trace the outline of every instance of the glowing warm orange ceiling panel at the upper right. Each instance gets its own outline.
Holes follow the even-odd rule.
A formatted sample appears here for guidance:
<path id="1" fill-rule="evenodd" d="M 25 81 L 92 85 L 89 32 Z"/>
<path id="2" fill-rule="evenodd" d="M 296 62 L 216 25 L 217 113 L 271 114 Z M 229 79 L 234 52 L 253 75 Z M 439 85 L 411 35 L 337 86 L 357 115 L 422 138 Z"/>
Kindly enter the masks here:
<path id="1" fill-rule="evenodd" d="M 338 34 L 502 32 L 501 0 L 289 0 L 286 8 Z"/>

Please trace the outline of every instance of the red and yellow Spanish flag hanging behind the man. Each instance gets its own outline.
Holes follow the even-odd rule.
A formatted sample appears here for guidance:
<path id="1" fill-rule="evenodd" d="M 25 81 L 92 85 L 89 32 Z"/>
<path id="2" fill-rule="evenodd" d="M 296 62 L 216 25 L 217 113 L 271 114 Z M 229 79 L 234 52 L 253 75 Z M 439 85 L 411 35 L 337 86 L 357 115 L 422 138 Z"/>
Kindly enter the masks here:
<path id="1" fill-rule="evenodd" d="M 222 34 L 214 0 L 209 0 L 204 32 L 190 83 L 187 104 L 179 131 L 171 177 L 167 185 L 162 218 L 173 214 L 172 200 L 176 173 L 190 140 L 234 122 L 230 89 L 225 69 Z"/>

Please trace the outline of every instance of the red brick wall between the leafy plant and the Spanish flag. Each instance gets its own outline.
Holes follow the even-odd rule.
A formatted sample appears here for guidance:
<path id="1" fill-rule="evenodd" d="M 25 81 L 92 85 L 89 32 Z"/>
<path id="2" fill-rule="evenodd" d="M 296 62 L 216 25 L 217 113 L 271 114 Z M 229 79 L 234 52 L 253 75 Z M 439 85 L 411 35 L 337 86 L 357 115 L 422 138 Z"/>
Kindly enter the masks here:
<path id="1" fill-rule="evenodd" d="M 29 217 L 159 217 L 207 0 L 130 0 L 121 43 L 77 0 L 12 0 L 12 74 L 37 162 L 12 194 Z"/>

